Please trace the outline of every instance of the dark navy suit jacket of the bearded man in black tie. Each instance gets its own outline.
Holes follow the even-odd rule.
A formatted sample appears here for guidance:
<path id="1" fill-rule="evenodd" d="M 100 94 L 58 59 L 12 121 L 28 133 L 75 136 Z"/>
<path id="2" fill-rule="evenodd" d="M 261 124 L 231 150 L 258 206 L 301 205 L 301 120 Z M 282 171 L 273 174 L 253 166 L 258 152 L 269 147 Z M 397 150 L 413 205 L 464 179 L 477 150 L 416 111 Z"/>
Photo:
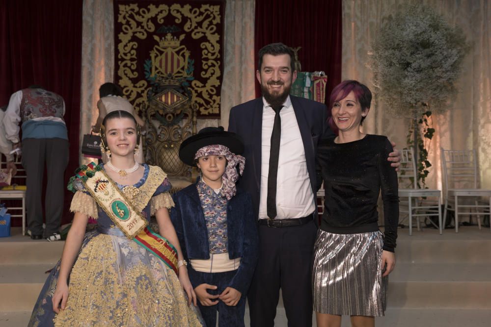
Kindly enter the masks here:
<path id="1" fill-rule="evenodd" d="M 307 171 L 312 192 L 319 189 L 315 170 L 315 154 L 319 140 L 334 135 L 327 124 L 327 108 L 320 102 L 290 96 L 300 128 Z M 239 134 L 245 145 L 246 167 L 239 180 L 242 188 L 251 194 L 256 218 L 259 216 L 261 187 L 261 130 L 263 123 L 263 98 L 239 104 L 230 111 L 228 131 Z M 316 206 L 317 207 L 317 206 Z"/>

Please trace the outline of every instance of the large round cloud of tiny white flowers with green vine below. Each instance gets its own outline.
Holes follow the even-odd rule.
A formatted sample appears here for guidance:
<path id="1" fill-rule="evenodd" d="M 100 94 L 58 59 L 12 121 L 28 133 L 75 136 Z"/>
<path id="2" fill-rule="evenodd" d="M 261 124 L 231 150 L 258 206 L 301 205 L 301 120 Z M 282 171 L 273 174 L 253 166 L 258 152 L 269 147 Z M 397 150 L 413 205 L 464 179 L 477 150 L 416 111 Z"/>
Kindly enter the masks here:
<path id="1" fill-rule="evenodd" d="M 411 118 L 408 146 L 417 153 L 418 186 L 425 180 L 435 133 L 433 113 L 447 110 L 470 45 L 459 27 L 450 26 L 432 8 L 406 5 L 384 19 L 367 63 L 375 93 L 395 117 Z"/>

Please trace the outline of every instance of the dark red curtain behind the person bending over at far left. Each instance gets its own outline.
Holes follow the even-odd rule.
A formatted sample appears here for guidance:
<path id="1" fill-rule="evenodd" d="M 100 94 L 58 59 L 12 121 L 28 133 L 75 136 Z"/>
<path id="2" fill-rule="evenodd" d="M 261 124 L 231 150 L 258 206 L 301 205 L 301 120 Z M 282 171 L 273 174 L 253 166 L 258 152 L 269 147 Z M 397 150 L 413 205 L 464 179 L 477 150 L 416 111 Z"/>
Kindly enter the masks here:
<path id="1" fill-rule="evenodd" d="M 70 141 L 65 178 L 79 165 L 82 0 L 0 1 L 0 105 L 32 84 L 65 100 Z M 72 197 L 65 194 L 63 222 Z"/>

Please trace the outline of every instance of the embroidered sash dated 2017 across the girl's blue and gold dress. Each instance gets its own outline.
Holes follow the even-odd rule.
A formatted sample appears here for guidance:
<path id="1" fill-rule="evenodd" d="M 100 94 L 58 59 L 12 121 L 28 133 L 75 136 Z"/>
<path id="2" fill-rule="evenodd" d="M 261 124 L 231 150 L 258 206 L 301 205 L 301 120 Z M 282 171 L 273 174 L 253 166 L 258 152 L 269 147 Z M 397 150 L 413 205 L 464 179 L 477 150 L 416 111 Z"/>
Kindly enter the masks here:
<path id="1" fill-rule="evenodd" d="M 93 162 L 82 166 L 76 177 L 82 180 L 85 189 L 128 239 L 157 255 L 178 274 L 176 249 L 163 236 L 148 229 L 148 221 L 100 166 Z M 147 178 L 150 177 L 157 176 L 149 174 Z"/>

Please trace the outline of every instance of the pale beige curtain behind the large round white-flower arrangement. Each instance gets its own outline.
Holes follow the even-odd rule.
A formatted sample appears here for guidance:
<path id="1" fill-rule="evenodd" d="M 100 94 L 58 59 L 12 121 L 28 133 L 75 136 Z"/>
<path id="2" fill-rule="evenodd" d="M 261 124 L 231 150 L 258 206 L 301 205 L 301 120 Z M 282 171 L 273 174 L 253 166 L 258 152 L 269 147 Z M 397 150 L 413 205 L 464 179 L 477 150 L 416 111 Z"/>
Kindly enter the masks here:
<path id="1" fill-rule="evenodd" d="M 436 133 L 429 153 L 433 167 L 427 184 L 442 188 L 440 147 L 446 150 L 476 149 L 481 187 L 491 188 L 491 4 L 487 0 L 344 0 L 343 79 L 357 79 L 373 90 L 372 73 L 365 67 L 367 53 L 377 37 L 382 19 L 393 15 L 404 3 L 424 3 L 458 25 L 472 42 L 458 81 L 460 90 L 449 110 L 434 114 Z M 381 101 L 375 103 L 364 123 L 368 133 L 387 135 L 398 148 L 406 146 L 409 121 L 386 113 Z"/>

